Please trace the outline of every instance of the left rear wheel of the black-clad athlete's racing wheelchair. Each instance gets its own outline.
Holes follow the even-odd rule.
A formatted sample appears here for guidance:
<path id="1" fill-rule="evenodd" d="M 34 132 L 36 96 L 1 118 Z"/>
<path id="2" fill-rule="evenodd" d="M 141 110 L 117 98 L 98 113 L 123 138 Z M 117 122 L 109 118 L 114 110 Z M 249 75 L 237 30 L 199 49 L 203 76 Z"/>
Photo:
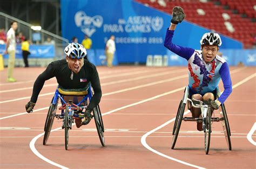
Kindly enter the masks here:
<path id="1" fill-rule="evenodd" d="M 52 103 L 50 104 L 48 114 L 47 114 L 47 117 L 46 117 L 46 121 L 45 121 L 45 124 L 44 124 L 43 145 L 46 145 L 47 140 L 50 136 L 52 124 L 53 124 L 53 121 L 54 121 L 54 118 L 55 118 L 56 108 L 57 108 L 57 105 L 54 105 Z"/>

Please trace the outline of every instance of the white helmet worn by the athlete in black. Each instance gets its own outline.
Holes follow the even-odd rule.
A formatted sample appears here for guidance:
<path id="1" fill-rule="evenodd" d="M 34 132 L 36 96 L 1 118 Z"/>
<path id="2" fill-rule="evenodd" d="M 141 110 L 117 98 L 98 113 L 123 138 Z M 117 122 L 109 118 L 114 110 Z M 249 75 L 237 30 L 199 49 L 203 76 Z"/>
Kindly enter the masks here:
<path id="1" fill-rule="evenodd" d="M 87 54 L 86 49 L 83 45 L 78 43 L 71 43 L 65 47 L 65 53 L 68 57 L 73 59 L 84 58 Z"/>

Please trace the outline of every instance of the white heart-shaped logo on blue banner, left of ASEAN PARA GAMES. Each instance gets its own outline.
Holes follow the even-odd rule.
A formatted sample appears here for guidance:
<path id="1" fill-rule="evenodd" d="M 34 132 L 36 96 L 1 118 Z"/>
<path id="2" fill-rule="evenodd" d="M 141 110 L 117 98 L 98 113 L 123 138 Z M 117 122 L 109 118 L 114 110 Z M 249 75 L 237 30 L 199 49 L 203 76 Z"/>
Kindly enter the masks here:
<path id="1" fill-rule="evenodd" d="M 96 32 L 96 28 L 100 28 L 103 24 L 103 17 L 96 15 L 94 17 L 87 16 L 84 11 L 78 11 L 75 15 L 75 23 L 80 27 L 81 31 L 91 37 Z"/>

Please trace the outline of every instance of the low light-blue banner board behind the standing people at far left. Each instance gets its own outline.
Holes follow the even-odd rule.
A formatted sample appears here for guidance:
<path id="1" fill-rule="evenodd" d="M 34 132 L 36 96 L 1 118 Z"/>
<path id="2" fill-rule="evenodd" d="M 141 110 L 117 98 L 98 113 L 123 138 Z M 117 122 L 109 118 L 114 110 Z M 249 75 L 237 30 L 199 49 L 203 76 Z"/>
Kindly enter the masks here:
<path id="1" fill-rule="evenodd" d="M 0 45 L 0 53 L 4 53 L 5 45 Z M 30 55 L 29 58 L 53 58 L 55 57 L 55 47 L 53 45 L 30 45 L 29 46 Z M 3 55 L 4 58 L 8 58 L 9 54 Z M 16 46 L 16 58 L 22 57 L 21 45 Z"/>

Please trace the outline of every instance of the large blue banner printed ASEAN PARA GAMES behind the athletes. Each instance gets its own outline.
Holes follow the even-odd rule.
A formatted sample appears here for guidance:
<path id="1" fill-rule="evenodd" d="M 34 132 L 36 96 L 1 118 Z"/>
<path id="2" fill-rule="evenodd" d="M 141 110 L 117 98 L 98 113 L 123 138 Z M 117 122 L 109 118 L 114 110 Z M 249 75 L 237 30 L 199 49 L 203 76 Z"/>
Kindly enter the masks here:
<path id="1" fill-rule="evenodd" d="M 120 63 L 145 63 L 147 55 L 164 55 L 164 39 L 171 16 L 132 0 L 61 0 L 61 22 L 64 38 L 84 35 L 92 39 L 93 49 L 104 49 L 113 34 Z M 177 26 L 173 43 L 200 48 L 200 39 L 210 30 L 183 21 Z M 221 35 L 220 35 L 221 36 Z M 221 36 L 221 48 L 242 48 L 239 41 Z"/>

